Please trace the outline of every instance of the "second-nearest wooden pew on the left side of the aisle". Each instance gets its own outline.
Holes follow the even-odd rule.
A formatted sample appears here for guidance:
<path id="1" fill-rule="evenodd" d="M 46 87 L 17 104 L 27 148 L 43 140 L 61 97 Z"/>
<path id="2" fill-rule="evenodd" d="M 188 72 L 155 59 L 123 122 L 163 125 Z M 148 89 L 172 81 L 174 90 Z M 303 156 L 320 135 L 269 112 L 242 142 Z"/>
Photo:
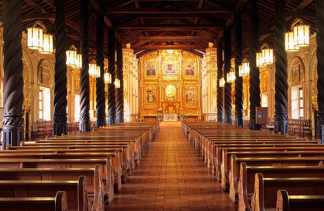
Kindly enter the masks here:
<path id="1" fill-rule="evenodd" d="M 54 197 L 58 190 L 67 193 L 67 205 L 70 209 L 92 210 L 85 176 L 80 176 L 77 181 L 0 181 L 0 197 Z"/>

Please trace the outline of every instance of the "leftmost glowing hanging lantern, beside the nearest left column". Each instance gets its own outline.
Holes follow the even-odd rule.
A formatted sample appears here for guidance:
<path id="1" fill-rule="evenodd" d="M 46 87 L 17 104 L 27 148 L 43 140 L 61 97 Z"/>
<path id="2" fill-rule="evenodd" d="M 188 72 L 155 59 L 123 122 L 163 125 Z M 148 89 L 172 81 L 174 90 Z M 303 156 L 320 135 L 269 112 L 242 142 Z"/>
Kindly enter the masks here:
<path id="1" fill-rule="evenodd" d="M 39 27 L 37 26 L 39 25 Z M 38 20 L 34 22 L 34 25 L 27 28 L 27 48 L 33 50 L 40 50 L 43 48 L 43 34 L 46 27 Z"/>

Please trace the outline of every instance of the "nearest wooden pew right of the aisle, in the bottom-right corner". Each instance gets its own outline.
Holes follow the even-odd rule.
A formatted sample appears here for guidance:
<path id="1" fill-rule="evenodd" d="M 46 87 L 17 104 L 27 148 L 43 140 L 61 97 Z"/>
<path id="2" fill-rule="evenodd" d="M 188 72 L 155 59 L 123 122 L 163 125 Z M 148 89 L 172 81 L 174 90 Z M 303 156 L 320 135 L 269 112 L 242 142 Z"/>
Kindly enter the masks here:
<path id="1" fill-rule="evenodd" d="M 286 190 L 278 190 L 276 211 L 322 211 L 324 195 L 288 195 Z"/>

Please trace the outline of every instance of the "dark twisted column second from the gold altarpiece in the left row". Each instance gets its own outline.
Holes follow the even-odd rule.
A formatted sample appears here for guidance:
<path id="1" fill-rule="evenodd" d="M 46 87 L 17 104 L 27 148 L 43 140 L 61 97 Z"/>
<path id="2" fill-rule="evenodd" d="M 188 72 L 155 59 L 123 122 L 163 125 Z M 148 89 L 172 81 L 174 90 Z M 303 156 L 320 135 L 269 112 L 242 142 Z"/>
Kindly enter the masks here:
<path id="1" fill-rule="evenodd" d="M 116 90 L 115 90 L 115 31 L 108 30 L 108 71 L 111 84 L 108 85 L 108 125 L 116 123 Z"/>

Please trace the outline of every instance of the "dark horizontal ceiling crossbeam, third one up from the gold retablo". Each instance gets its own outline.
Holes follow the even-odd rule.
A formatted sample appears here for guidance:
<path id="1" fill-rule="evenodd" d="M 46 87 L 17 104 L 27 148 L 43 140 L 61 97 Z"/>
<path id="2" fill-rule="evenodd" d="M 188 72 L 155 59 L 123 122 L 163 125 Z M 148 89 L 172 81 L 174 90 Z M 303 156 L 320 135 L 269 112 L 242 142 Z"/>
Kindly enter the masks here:
<path id="1" fill-rule="evenodd" d="M 210 29 L 210 28 L 221 28 L 221 24 L 120 24 L 116 25 L 116 29 Z"/>

